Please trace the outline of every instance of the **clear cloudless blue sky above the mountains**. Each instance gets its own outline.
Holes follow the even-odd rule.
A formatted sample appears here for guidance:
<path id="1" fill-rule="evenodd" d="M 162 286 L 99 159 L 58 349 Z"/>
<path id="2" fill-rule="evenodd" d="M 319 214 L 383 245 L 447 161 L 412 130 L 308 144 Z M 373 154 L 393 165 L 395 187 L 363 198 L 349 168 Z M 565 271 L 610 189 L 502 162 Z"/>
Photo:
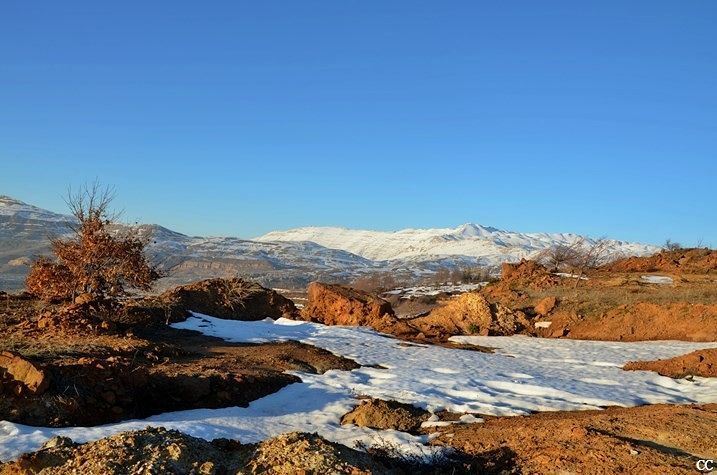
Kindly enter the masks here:
<path id="1" fill-rule="evenodd" d="M 6 0 L 0 194 L 717 245 L 717 2 Z"/>

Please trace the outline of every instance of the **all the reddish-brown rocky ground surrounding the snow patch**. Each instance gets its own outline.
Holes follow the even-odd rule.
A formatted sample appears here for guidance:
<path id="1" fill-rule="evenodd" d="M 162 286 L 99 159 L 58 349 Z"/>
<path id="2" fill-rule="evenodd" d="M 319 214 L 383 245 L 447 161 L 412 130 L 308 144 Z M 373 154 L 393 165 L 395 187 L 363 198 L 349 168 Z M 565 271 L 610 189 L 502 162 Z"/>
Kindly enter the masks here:
<path id="1" fill-rule="evenodd" d="M 298 381 L 287 371 L 358 367 L 298 342 L 229 343 L 168 326 L 189 310 L 225 319 L 368 326 L 406 344 L 453 347 L 453 335 L 714 342 L 714 255 L 627 259 L 587 279 L 524 261 L 504 266 L 503 278 L 485 288 L 420 302 L 416 308 L 422 310 L 412 318 L 397 315 L 377 296 L 321 283 L 309 287 L 301 310 L 241 279 L 190 284 L 121 307 L 83 298 L 69 306 L 47 304 L 27 294 L 3 294 L 0 420 L 92 426 L 181 409 L 246 406 Z M 631 362 L 624 369 L 715 377 L 716 355 L 705 349 Z M 451 449 L 452 455 L 427 464 L 403 457 L 395 447 L 355 450 L 311 434 L 241 444 L 147 429 L 87 444 L 55 439 L 0 466 L 0 473 L 692 473 L 697 458 L 717 458 L 710 437 L 717 434 L 714 404 L 486 416 L 481 423 L 462 416 L 365 399 L 343 417 L 342 424 L 430 435 L 432 445 Z"/>

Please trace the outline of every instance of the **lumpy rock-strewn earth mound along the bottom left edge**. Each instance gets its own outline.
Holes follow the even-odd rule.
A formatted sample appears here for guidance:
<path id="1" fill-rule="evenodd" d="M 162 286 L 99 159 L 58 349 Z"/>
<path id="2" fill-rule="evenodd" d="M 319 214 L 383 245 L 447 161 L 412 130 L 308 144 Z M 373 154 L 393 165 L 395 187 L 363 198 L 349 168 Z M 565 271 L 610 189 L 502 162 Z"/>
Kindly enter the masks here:
<path id="1" fill-rule="evenodd" d="M 66 437 L 0 465 L 1 475 L 125 475 L 149 473 L 390 473 L 364 452 L 316 434 L 288 433 L 260 444 L 228 439 L 208 442 L 175 430 L 148 427 L 86 444 Z"/>

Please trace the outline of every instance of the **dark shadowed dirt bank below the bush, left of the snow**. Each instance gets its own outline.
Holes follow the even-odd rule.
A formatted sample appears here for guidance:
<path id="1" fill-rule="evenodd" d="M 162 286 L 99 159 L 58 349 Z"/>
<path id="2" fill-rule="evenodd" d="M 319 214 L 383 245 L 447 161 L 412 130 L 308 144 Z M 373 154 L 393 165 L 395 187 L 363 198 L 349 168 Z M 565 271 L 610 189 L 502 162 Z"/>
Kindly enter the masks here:
<path id="1" fill-rule="evenodd" d="M 234 344 L 161 324 L 40 328 L 39 315 L 55 311 L 28 299 L 0 307 L 0 351 L 44 375 L 37 393 L 0 375 L 0 420 L 88 426 L 183 409 L 246 406 L 298 382 L 287 370 L 358 367 L 298 342 Z"/>

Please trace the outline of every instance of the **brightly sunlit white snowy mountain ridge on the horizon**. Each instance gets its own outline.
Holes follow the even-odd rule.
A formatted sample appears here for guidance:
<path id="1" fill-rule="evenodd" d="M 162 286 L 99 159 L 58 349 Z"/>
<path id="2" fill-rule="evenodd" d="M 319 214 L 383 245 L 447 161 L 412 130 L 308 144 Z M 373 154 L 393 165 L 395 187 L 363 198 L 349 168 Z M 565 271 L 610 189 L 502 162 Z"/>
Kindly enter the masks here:
<path id="1" fill-rule="evenodd" d="M 518 233 L 463 224 L 457 228 L 404 229 L 396 232 L 364 231 L 333 227 L 307 227 L 274 231 L 256 238 L 260 242 L 311 241 L 342 249 L 372 260 L 435 260 L 437 256 L 483 258 L 497 264 L 529 257 L 555 244 L 570 244 L 577 234 Z M 656 246 L 612 241 L 615 253 L 648 254 Z"/>

